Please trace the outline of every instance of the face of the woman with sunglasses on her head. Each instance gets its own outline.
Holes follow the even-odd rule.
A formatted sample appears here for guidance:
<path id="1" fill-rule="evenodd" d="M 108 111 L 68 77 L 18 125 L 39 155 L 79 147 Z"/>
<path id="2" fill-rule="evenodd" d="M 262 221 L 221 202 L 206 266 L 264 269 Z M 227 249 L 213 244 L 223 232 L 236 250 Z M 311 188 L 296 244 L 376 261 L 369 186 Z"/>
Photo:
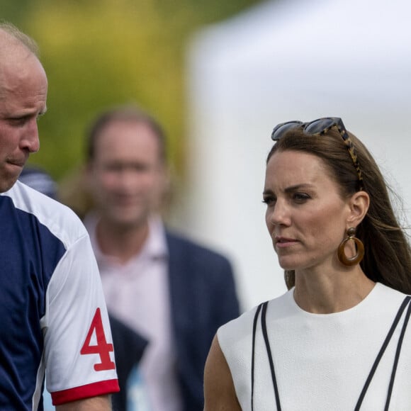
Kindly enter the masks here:
<path id="1" fill-rule="evenodd" d="M 350 208 L 319 157 L 276 152 L 266 167 L 266 225 L 283 269 L 315 269 L 337 261 Z"/>

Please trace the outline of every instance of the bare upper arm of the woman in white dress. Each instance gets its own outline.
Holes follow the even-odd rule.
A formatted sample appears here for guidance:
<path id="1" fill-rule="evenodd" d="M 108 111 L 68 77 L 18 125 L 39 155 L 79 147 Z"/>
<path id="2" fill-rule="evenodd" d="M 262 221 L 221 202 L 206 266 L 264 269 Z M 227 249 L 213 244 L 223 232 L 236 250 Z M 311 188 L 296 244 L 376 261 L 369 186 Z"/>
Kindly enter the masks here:
<path id="1" fill-rule="evenodd" d="M 230 368 L 217 336 L 213 339 L 204 369 L 204 411 L 241 411 Z"/>

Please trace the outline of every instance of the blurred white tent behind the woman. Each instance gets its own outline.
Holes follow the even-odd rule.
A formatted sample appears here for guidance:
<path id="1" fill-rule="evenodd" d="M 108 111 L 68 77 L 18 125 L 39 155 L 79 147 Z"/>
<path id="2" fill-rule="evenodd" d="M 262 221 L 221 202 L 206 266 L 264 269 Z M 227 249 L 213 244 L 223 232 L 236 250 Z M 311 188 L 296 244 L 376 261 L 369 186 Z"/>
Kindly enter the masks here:
<path id="1" fill-rule="evenodd" d="M 407 0 L 269 1 L 191 42 L 180 225 L 231 257 L 244 309 L 286 290 L 261 203 L 276 123 L 341 117 L 410 207 L 410 14 Z"/>

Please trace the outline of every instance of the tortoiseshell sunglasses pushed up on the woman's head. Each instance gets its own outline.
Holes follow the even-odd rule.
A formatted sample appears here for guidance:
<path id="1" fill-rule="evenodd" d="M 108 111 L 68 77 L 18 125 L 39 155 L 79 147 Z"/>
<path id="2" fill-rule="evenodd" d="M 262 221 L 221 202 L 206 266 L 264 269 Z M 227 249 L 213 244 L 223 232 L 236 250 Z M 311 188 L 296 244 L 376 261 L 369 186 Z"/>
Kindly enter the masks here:
<path id="1" fill-rule="evenodd" d="M 356 169 L 356 173 L 359 179 L 359 189 L 363 189 L 363 178 L 361 176 L 361 168 L 359 165 L 358 157 L 356 155 L 356 150 L 354 147 L 347 130 L 345 130 L 344 123 L 342 119 L 339 117 L 323 117 L 317 118 L 317 120 L 310 121 L 308 123 L 303 123 L 302 121 L 294 120 L 294 121 L 287 121 L 286 123 L 280 123 L 274 127 L 273 133 L 271 133 L 271 140 L 278 141 L 281 140 L 281 137 L 285 135 L 288 130 L 292 130 L 293 128 L 303 128 L 303 132 L 307 135 L 324 135 L 331 128 L 336 127 L 339 131 L 339 134 L 344 141 L 344 144 L 347 147 L 349 155 L 352 159 L 354 167 Z"/>

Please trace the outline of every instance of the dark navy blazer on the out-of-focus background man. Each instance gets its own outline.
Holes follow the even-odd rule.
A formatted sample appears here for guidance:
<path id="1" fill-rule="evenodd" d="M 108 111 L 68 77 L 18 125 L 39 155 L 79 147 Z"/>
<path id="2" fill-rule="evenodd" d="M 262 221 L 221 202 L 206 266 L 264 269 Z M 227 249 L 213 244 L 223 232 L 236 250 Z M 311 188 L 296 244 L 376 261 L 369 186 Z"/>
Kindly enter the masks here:
<path id="1" fill-rule="evenodd" d="M 211 342 L 220 325 L 240 314 L 235 281 L 230 262 L 221 254 L 169 231 L 166 235 L 181 411 L 203 411 L 203 372 Z M 112 333 L 118 373 L 127 376 L 130 351 L 116 349 L 116 330 Z M 113 405 L 114 410 L 124 411 L 125 383 L 119 383 Z"/>

